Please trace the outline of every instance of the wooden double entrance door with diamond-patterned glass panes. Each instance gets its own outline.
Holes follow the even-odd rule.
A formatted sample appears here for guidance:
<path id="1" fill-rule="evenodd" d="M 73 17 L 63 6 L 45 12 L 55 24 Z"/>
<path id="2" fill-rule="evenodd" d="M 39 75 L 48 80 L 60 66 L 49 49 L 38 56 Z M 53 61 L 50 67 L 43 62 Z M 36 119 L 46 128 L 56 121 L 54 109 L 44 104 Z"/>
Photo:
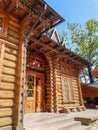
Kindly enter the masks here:
<path id="1" fill-rule="evenodd" d="M 44 75 L 27 72 L 25 113 L 44 111 Z"/>

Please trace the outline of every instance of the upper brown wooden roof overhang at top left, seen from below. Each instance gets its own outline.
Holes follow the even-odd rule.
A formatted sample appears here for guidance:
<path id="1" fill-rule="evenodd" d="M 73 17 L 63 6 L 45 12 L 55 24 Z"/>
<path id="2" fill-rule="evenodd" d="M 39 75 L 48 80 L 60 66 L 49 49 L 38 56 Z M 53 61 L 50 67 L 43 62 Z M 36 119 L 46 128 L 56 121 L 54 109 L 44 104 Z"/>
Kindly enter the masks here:
<path id="1" fill-rule="evenodd" d="M 54 11 L 43 0 L 1 0 L 0 9 L 4 12 L 18 18 L 20 23 L 23 21 L 25 26 L 25 35 L 37 35 L 43 33 L 58 24 L 64 19 Z"/>

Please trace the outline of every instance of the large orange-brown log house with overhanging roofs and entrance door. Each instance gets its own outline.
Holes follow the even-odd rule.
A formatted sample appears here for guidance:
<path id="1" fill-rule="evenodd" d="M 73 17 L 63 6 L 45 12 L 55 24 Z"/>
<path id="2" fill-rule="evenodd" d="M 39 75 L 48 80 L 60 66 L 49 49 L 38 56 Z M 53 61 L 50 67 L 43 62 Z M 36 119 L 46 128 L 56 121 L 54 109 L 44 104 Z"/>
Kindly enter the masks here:
<path id="1" fill-rule="evenodd" d="M 22 130 L 24 113 L 83 106 L 79 72 L 89 63 L 46 35 L 63 21 L 43 0 L 0 0 L 1 130 Z"/>

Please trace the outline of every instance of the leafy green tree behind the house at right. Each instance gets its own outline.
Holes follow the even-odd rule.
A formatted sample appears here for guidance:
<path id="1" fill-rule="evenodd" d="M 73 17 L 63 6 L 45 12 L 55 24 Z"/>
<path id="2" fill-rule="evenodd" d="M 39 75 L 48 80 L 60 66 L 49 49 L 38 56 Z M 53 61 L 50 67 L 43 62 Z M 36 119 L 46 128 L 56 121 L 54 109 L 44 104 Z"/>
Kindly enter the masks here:
<path id="1" fill-rule="evenodd" d="M 98 60 L 98 21 L 90 19 L 84 28 L 77 23 L 68 23 L 67 28 L 70 32 L 69 38 L 72 45 L 70 49 L 90 63 L 95 64 Z M 93 83 L 90 66 L 88 73 L 90 83 Z"/>

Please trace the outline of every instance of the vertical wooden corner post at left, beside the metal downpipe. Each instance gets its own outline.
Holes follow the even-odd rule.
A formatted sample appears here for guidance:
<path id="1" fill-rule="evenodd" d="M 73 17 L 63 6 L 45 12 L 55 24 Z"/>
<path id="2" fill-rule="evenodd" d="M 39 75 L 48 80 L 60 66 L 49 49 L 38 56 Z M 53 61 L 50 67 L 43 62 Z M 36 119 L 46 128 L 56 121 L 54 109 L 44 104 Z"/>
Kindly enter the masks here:
<path id="1" fill-rule="evenodd" d="M 13 125 L 15 130 L 23 129 L 22 126 L 22 84 L 23 84 L 23 51 L 24 45 L 21 41 L 19 45 L 19 55 L 18 55 L 18 67 L 17 67 L 17 83 L 15 90 L 15 108 L 14 108 L 14 121 Z"/>

